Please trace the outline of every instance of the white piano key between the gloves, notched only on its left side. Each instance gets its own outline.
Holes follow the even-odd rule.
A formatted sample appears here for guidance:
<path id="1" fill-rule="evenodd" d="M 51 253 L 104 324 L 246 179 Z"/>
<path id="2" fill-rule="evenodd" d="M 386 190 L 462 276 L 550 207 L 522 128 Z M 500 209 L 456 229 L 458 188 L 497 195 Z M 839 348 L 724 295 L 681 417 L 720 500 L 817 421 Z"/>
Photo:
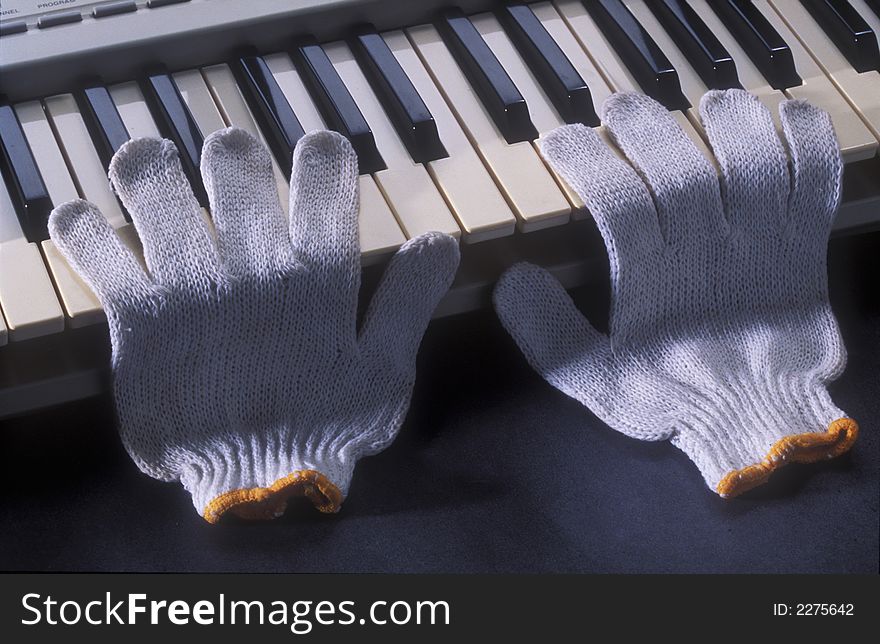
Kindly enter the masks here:
<path id="1" fill-rule="evenodd" d="M 464 231 L 466 242 L 513 233 L 516 217 L 468 141 L 418 54 L 402 31 L 382 34 L 388 48 L 425 102 L 448 156 L 426 165 Z"/>

